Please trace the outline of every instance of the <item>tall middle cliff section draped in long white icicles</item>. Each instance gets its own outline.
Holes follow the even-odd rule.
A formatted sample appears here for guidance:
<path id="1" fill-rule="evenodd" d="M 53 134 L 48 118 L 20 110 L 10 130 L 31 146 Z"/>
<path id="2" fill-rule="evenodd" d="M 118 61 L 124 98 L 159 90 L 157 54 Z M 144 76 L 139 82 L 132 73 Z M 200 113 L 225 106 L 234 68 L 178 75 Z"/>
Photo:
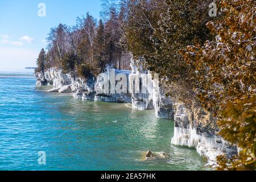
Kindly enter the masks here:
<path id="1" fill-rule="evenodd" d="M 133 109 L 155 109 L 155 115 L 157 118 L 173 119 L 172 101 L 170 97 L 165 97 L 165 92 L 161 86 L 159 86 L 158 75 L 153 75 L 150 71 L 143 72 L 142 68 L 138 68 L 135 61 L 131 59 L 131 74 L 129 75 L 129 84 L 131 101 Z M 137 80 L 136 78 L 139 78 Z M 134 86 L 141 86 L 146 90 L 144 93 L 135 90 Z M 138 87 L 137 87 L 138 88 Z"/>

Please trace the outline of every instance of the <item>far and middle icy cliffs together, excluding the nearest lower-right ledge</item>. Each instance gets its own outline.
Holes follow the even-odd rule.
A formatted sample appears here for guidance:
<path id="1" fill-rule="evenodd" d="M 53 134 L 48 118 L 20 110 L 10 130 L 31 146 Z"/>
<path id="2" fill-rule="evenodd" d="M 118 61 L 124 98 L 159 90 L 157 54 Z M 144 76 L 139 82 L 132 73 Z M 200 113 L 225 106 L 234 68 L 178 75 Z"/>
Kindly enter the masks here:
<path id="1" fill-rule="evenodd" d="M 132 71 L 115 69 L 114 74 L 117 76 L 122 73 L 129 78 L 127 88 L 129 88 L 131 82 L 135 84 L 133 76 L 139 77 L 139 85 L 142 82 L 149 82 L 146 93 L 131 93 L 130 90 L 130 93 L 100 93 L 97 91 L 97 86 L 100 84 L 97 79 L 84 80 L 73 76 L 71 73 L 63 73 L 61 69 L 54 67 L 49 68 L 44 73 L 35 73 L 36 85 L 53 85 L 55 88 L 48 90 L 48 92 L 74 93 L 73 97 L 80 100 L 132 103 L 133 109 L 155 109 L 157 118 L 173 119 L 172 101 L 170 97 L 164 96 L 164 91 L 159 88 L 158 84 L 154 84 L 151 73 L 138 71 L 133 63 L 131 63 L 131 69 Z M 105 73 L 107 73 L 109 81 L 110 72 L 110 67 L 106 67 Z"/>

